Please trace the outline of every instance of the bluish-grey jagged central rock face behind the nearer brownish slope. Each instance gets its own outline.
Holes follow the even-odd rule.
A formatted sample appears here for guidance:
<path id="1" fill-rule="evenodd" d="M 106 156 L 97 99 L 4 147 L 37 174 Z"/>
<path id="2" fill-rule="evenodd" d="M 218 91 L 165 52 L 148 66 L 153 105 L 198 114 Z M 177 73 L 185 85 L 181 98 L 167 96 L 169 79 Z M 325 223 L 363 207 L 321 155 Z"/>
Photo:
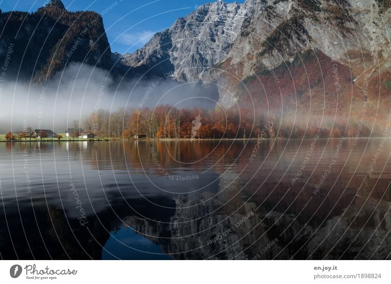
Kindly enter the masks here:
<path id="1" fill-rule="evenodd" d="M 147 65 L 151 72 L 174 72 L 179 81 L 198 81 L 206 67 L 226 59 L 228 49 L 247 19 L 238 3 L 218 0 L 202 5 L 185 18 L 179 18 L 133 54 L 122 57 L 125 65 Z"/>

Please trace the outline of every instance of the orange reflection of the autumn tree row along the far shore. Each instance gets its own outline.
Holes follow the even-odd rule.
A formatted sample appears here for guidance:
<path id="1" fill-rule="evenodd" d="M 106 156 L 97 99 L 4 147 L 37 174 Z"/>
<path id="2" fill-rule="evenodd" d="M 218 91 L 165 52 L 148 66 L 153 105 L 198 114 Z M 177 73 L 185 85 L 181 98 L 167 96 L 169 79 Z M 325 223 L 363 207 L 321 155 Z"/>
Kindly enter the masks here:
<path id="1" fill-rule="evenodd" d="M 232 143 L 232 142 L 231 142 Z M 231 143 L 210 141 L 130 141 L 92 143 L 82 151 L 83 162 L 93 169 L 126 169 L 126 164 L 134 169 L 155 168 L 152 149 L 157 153 L 158 161 L 165 167 L 191 167 L 201 169 L 205 164 L 198 162 L 205 158 L 209 163 L 221 160 L 221 164 L 233 162 L 242 149 Z M 73 145 L 73 147 L 77 147 Z M 96 159 L 98 157 L 98 159 Z M 183 163 L 184 162 L 184 163 Z M 190 164 L 191 163 L 191 164 Z"/>

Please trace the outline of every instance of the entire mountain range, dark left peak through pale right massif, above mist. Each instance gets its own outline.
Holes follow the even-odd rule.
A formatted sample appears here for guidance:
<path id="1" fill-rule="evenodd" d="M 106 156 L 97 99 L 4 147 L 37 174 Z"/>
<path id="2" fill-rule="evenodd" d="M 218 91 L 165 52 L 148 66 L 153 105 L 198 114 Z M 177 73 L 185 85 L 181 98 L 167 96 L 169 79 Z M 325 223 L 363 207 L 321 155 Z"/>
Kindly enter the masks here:
<path id="1" fill-rule="evenodd" d="M 114 78 L 169 73 L 214 83 L 226 108 L 336 135 L 363 124 L 364 135 L 383 131 L 391 107 L 390 18 L 390 0 L 217 0 L 121 55 L 99 14 L 52 0 L 35 13 L 0 13 L 0 61 L 11 61 L 7 76 L 34 83 L 73 61 Z"/>

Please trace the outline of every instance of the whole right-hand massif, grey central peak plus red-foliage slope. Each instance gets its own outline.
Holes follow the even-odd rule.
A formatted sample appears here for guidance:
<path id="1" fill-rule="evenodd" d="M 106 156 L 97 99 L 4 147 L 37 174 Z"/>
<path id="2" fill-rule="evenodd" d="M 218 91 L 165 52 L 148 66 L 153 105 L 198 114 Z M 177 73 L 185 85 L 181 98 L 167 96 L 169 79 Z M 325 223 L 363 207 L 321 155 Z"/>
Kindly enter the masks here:
<path id="1" fill-rule="evenodd" d="M 350 132 L 365 112 L 365 131 L 382 132 L 379 119 L 391 106 L 390 7 L 390 0 L 216 1 L 122 62 L 215 82 L 224 107 L 296 118 L 303 128 L 337 120 Z"/>

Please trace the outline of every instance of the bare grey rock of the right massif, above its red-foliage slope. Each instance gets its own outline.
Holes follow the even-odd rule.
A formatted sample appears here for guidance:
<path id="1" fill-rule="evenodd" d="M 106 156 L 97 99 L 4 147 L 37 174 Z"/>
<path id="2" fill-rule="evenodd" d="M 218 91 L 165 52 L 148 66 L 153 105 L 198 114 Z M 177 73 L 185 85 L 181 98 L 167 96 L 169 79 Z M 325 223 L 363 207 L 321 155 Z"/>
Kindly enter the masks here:
<path id="1" fill-rule="evenodd" d="M 208 26 L 221 27 L 226 21 L 218 19 L 223 17 L 223 12 L 229 14 L 230 11 L 221 9 L 221 5 L 231 7 L 231 10 L 235 7 L 236 14 L 233 18 L 239 15 L 243 16 L 243 19 L 236 22 L 234 35 L 227 38 L 222 48 L 209 48 L 199 52 L 199 46 L 202 46 L 203 42 L 195 42 L 195 37 L 189 37 L 186 27 L 192 24 L 198 28 L 198 34 L 206 33 Z M 208 19 L 206 26 L 202 25 L 203 19 L 199 20 L 202 18 L 200 15 Z M 367 23 L 363 18 L 368 15 L 370 20 Z M 220 102 L 229 107 L 236 102 L 236 98 L 231 96 L 230 100 L 228 93 L 237 93 L 238 86 L 236 90 L 223 90 L 227 87 L 226 80 L 221 80 L 224 74 L 227 74 L 225 69 L 234 71 L 235 77 L 244 80 L 293 60 L 297 51 L 307 49 L 320 50 L 329 58 L 349 65 L 349 57 L 345 51 L 357 50 L 361 47 L 360 44 L 363 45 L 362 52 L 367 59 L 370 57 L 375 61 L 376 47 L 369 39 L 369 32 L 380 26 L 383 28 L 372 34 L 376 37 L 374 40 L 383 57 L 387 58 L 385 68 L 390 68 L 390 41 L 385 38 L 389 26 L 382 25 L 382 22 L 387 23 L 382 17 L 390 19 L 390 1 L 379 0 L 372 3 L 369 0 L 246 0 L 243 4 L 217 1 L 200 6 L 187 17 L 176 20 L 169 29 L 156 33 L 143 48 L 131 55 L 122 56 L 122 63 L 131 67 L 144 65 L 150 69 L 156 68 L 159 73 L 161 70 L 156 64 L 164 62 L 165 65 L 161 69 L 173 71 L 179 81 L 222 81 Z M 227 16 L 224 19 L 227 19 Z M 360 34 L 360 31 L 363 33 Z M 220 31 L 220 34 L 221 32 L 226 33 L 224 30 Z M 193 34 L 195 33 L 190 33 Z M 217 38 L 211 41 L 223 40 Z M 179 45 L 177 42 L 180 42 L 181 49 L 175 48 L 175 44 Z M 209 41 L 208 45 L 211 45 Z M 183 60 L 177 59 L 178 50 L 185 50 L 181 53 Z M 211 54 L 219 56 L 206 58 Z M 222 67 L 222 70 L 216 71 L 216 67 Z M 357 69 L 357 66 L 353 66 L 354 68 Z M 187 69 L 195 72 L 184 71 Z M 358 69 L 363 74 L 363 68 Z"/>

